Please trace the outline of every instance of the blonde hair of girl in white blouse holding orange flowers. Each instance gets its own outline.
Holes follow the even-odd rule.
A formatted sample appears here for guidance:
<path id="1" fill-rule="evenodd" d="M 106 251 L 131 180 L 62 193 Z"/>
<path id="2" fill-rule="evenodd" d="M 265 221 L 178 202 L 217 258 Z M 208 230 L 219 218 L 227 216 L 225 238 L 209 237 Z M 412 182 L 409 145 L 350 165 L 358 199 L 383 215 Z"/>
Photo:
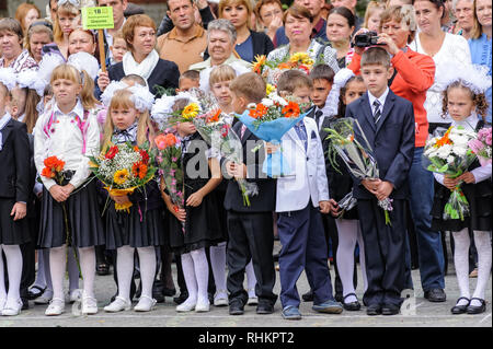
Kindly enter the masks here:
<path id="1" fill-rule="evenodd" d="M 94 97 L 94 81 L 85 72 L 85 70 L 79 72 L 79 70 L 77 70 L 77 68 L 74 68 L 73 66 L 61 65 L 54 69 L 51 73 L 50 84 L 53 84 L 58 79 L 70 80 L 82 85 L 80 100 L 85 110 L 92 109 L 96 106 L 96 104 L 100 104 L 100 102 Z"/>

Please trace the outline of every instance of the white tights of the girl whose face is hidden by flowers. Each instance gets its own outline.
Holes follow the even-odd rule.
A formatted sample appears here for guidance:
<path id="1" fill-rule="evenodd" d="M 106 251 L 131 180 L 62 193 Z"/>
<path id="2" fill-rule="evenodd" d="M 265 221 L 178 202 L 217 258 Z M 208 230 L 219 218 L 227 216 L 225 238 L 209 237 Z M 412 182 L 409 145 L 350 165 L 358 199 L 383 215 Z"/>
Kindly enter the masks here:
<path id="1" fill-rule="evenodd" d="M 182 254 L 182 268 L 188 298 L 185 303 L 208 303 L 209 266 L 204 248 Z"/>

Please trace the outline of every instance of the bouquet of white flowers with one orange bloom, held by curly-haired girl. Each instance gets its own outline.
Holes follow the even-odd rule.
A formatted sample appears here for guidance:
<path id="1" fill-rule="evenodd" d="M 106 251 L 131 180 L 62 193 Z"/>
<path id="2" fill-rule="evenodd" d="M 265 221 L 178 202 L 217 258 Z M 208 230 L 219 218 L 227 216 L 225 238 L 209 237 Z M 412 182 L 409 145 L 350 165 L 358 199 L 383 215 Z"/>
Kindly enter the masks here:
<path id="1" fill-rule="evenodd" d="M 475 154 L 468 146 L 475 138 L 475 132 L 468 131 L 461 126 L 450 126 L 443 137 L 429 139 L 423 153 L 424 159 L 429 161 L 426 170 L 457 178 L 475 159 Z M 463 221 L 469 214 L 469 202 L 460 189 L 460 184 L 451 190 L 450 198 L 445 205 L 444 220 Z"/>

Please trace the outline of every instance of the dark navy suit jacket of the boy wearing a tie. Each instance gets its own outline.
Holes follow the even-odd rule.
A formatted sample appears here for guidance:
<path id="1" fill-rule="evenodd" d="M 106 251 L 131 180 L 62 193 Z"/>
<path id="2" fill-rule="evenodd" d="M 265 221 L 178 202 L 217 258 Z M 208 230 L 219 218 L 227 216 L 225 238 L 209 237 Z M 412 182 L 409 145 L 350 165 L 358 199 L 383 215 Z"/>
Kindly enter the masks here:
<path id="1" fill-rule="evenodd" d="M 408 174 L 414 155 L 415 125 L 412 103 L 389 91 L 382 115 L 376 126 L 368 93 L 365 93 L 347 105 L 346 117 L 353 117 L 359 121 L 374 150 L 380 178 L 393 184 L 390 198 L 408 198 Z M 356 137 L 363 141 L 360 135 Z M 353 194 L 356 199 L 375 198 L 357 178 L 354 179 Z"/>

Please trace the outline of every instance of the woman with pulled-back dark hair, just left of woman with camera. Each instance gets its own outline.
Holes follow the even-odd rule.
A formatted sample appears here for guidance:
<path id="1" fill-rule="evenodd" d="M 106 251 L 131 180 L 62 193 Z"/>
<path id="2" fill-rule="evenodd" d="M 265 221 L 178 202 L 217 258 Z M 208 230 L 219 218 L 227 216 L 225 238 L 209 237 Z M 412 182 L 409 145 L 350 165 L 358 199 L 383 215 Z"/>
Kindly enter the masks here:
<path id="1" fill-rule="evenodd" d="M 337 51 L 339 68 L 345 68 L 353 57 L 351 36 L 354 31 L 355 18 L 349 9 L 341 7 L 329 12 L 326 19 L 326 37 Z"/>

